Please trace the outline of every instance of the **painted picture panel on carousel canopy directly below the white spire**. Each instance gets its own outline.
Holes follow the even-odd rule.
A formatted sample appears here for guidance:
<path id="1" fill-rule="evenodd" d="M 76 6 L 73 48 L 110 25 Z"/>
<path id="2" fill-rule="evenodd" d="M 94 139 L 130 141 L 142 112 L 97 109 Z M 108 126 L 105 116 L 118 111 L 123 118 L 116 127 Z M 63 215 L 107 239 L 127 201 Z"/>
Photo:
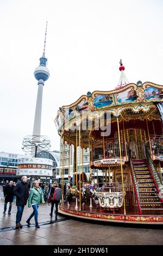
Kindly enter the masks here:
<path id="1" fill-rule="evenodd" d="M 118 93 L 116 98 L 118 103 L 127 103 L 135 101 L 137 97 L 136 90 L 129 88 L 122 93 Z"/>

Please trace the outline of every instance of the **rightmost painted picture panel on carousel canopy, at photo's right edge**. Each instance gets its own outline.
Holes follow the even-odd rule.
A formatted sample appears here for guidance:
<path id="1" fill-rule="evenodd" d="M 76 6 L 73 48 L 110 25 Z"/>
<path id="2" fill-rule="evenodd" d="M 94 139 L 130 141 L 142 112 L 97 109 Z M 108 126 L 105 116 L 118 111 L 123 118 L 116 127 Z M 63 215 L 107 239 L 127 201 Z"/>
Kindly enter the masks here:
<path id="1" fill-rule="evenodd" d="M 146 100 L 161 100 L 163 99 L 163 91 L 154 87 L 148 87 L 145 90 L 144 96 Z"/>

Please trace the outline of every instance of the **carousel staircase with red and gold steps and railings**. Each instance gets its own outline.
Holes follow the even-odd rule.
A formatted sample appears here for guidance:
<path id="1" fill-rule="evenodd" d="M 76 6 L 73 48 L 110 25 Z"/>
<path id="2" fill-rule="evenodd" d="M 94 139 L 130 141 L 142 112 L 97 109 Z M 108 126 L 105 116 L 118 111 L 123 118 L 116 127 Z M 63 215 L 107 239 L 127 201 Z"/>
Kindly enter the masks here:
<path id="1" fill-rule="evenodd" d="M 163 211 L 163 203 L 158 196 L 147 161 L 133 160 L 133 166 L 139 186 L 141 211 L 143 214 L 146 213 L 145 211 Z"/>

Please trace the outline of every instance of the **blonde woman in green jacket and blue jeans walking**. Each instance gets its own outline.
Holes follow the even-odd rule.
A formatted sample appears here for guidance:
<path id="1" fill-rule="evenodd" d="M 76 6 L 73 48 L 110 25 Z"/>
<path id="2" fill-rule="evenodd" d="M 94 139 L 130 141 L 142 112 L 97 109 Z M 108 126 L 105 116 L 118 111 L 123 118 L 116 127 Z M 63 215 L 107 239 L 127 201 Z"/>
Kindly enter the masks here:
<path id="1" fill-rule="evenodd" d="M 32 219 L 33 216 L 35 216 L 35 223 L 36 223 L 36 228 L 40 228 L 38 224 L 38 208 L 39 204 L 45 204 L 45 201 L 43 199 L 43 192 L 41 187 L 39 187 L 39 182 L 37 180 L 34 181 L 34 187 L 32 190 L 30 190 L 29 194 L 29 200 L 28 200 L 28 207 L 32 205 L 33 207 L 33 213 L 29 216 L 28 220 L 26 221 L 28 224 L 28 227 L 30 225 L 30 220 Z"/>

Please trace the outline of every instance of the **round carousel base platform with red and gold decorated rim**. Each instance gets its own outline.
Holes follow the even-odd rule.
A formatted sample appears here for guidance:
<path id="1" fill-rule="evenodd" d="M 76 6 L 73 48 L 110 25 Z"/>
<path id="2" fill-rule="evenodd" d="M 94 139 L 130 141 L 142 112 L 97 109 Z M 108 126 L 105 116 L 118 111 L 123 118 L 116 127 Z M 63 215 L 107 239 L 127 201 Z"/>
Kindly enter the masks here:
<path id="1" fill-rule="evenodd" d="M 113 213 L 105 211 L 99 205 L 93 205 L 90 208 L 89 203 L 82 205 L 81 211 L 75 209 L 75 202 L 72 202 L 68 207 L 67 203 L 59 206 L 59 213 L 65 216 L 76 217 L 79 220 L 95 220 L 99 222 L 115 222 L 115 223 L 134 223 L 134 224 L 163 224 L 163 210 L 154 211 L 146 210 L 143 215 L 139 214 L 137 206 L 126 206 L 127 214 L 124 215 L 124 210 L 119 209 Z"/>

